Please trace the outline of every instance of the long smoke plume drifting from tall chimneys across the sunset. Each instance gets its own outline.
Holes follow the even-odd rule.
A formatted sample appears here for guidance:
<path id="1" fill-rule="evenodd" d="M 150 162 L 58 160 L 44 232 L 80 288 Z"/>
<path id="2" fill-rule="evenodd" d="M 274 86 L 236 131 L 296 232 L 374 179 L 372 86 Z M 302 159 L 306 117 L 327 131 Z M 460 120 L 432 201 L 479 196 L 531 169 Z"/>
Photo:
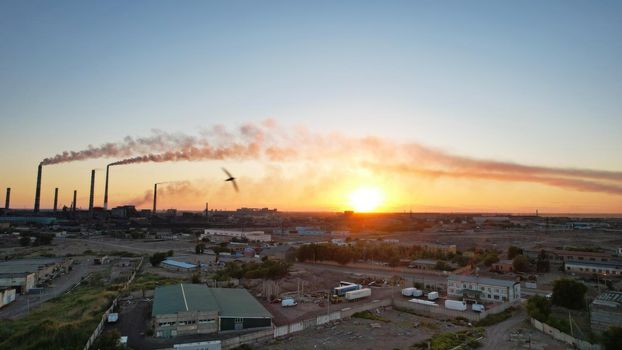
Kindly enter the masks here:
<path id="1" fill-rule="evenodd" d="M 622 194 L 622 171 L 545 167 L 476 159 L 418 143 L 399 143 L 380 137 L 349 137 L 339 133 L 320 134 L 304 128 L 283 128 L 272 120 L 245 124 L 235 130 L 216 125 L 202 130 L 196 136 L 158 130 L 152 133 L 147 137 L 128 136 L 116 143 L 65 151 L 46 158 L 43 164 L 94 158 L 123 158 L 110 165 L 204 160 L 314 164 L 334 162 L 344 167 L 362 165 L 376 172 L 531 182 L 573 191 Z M 145 200 L 137 202 L 143 203 Z"/>

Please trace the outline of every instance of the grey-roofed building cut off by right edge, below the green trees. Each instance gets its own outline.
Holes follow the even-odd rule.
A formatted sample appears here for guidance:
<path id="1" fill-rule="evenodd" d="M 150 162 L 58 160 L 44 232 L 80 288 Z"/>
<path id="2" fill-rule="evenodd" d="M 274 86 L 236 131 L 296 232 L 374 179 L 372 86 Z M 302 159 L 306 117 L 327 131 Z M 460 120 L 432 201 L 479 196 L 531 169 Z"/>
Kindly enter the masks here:
<path id="1" fill-rule="evenodd" d="M 590 306 L 590 322 L 598 332 L 622 325 L 622 292 L 607 291 L 596 297 Z"/>

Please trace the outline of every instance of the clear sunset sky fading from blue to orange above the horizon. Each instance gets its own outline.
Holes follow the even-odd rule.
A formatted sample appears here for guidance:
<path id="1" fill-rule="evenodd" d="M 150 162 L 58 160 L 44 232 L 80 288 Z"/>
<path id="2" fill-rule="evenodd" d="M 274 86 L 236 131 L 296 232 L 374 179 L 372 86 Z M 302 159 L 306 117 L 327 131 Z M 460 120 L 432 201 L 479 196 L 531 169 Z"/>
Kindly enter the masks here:
<path id="1" fill-rule="evenodd" d="M 114 167 L 111 205 L 172 181 L 162 208 L 341 211 L 362 191 L 381 211 L 620 213 L 620 38 L 617 1 L 2 1 L 0 186 L 31 208 L 63 151 L 275 124 L 297 156 Z M 42 207 L 54 187 L 86 206 L 90 170 L 123 158 L 45 166 Z"/>

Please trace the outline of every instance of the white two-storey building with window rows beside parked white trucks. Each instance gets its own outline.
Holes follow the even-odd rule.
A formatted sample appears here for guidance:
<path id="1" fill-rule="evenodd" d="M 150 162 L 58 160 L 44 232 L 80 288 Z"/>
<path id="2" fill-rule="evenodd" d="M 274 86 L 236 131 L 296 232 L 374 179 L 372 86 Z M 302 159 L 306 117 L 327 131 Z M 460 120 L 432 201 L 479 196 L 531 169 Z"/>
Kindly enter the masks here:
<path id="1" fill-rule="evenodd" d="M 447 277 L 447 295 L 489 302 L 513 302 L 521 297 L 519 282 L 463 275 Z"/>

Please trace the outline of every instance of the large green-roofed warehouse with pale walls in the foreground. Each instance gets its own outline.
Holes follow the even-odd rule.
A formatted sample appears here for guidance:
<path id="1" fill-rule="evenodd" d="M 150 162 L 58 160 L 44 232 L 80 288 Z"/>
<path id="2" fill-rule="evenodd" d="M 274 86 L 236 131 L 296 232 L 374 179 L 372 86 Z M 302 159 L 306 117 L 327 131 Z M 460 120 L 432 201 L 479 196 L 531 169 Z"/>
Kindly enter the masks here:
<path id="1" fill-rule="evenodd" d="M 246 289 L 203 284 L 157 287 L 151 316 L 163 338 L 272 327 L 272 315 Z"/>

